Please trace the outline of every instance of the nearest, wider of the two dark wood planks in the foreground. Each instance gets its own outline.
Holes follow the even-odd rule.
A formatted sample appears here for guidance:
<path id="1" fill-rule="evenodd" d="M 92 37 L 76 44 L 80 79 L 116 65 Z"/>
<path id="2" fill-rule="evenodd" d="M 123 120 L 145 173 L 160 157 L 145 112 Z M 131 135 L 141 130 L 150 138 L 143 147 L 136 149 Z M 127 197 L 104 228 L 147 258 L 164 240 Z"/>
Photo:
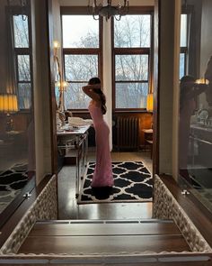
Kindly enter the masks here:
<path id="1" fill-rule="evenodd" d="M 181 235 L 29 236 L 19 253 L 93 254 L 190 251 Z"/>

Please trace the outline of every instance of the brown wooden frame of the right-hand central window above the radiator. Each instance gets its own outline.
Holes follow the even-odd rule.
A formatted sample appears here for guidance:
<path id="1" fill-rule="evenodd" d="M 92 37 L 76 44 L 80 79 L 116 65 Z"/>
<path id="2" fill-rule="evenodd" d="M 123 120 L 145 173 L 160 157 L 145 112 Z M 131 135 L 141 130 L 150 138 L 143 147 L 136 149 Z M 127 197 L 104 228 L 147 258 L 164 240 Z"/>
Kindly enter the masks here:
<path id="1" fill-rule="evenodd" d="M 148 55 L 148 79 L 147 81 L 140 80 L 128 80 L 121 81 L 122 83 L 149 83 L 148 92 L 152 92 L 152 75 L 153 75 L 153 47 L 154 47 L 154 8 L 153 6 L 131 6 L 129 7 L 128 14 L 150 14 L 150 48 L 144 47 L 133 47 L 133 48 L 117 48 L 114 46 L 114 18 L 111 20 L 111 50 L 112 50 L 112 111 L 113 113 L 124 113 L 124 112 L 146 112 L 146 108 L 116 108 L 116 83 L 120 81 L 116 81 L 116 55 Z M 121 20 L 121 19 L 120 19 Z"/>

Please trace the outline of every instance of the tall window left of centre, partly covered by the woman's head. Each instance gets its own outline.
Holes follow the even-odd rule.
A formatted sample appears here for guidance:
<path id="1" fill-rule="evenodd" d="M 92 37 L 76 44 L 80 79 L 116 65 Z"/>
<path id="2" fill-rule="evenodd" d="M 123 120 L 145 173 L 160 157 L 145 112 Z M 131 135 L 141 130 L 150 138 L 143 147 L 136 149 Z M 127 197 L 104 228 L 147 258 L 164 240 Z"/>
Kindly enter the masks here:
<path id="1" fill-rule="evenodd" d="M 67 109 L 87 109 L 88 96 L 82 86 L 93 77 L 101 77 L 102 40 L 101 21 L 92 15 L 62 15 L 63 55 Z"/>

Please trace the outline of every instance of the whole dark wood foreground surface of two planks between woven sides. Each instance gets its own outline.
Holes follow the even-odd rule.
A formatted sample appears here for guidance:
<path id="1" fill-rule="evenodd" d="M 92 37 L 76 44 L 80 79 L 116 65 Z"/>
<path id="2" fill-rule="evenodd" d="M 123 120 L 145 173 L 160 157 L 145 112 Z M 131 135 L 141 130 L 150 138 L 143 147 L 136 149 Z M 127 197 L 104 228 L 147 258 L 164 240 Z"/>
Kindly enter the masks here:
<path id="1" fill-rule="evenodd" d="M 117 255 L 190 252 L 172 220 L 37 222 L 18 253 Z"/>

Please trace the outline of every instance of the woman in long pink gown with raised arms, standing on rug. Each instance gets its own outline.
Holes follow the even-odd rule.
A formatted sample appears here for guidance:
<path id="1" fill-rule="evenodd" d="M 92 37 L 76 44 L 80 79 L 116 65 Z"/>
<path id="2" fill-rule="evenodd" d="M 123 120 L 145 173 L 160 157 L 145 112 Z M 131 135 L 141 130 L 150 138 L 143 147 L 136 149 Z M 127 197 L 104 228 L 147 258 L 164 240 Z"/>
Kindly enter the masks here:
<path id="1" fill-rule="evenodd" d="M 101 80 L 91 78 L 83 87 L 87 96 L 92 98 L 88 107 L 93 119 L 96 141 L 96 165 L 93 173 L 92 188 L 111 188 L 114 184 L 111 168 L 108 124 L 103 115 L 106 113 L 106 99 L 101 89 Z"/>

